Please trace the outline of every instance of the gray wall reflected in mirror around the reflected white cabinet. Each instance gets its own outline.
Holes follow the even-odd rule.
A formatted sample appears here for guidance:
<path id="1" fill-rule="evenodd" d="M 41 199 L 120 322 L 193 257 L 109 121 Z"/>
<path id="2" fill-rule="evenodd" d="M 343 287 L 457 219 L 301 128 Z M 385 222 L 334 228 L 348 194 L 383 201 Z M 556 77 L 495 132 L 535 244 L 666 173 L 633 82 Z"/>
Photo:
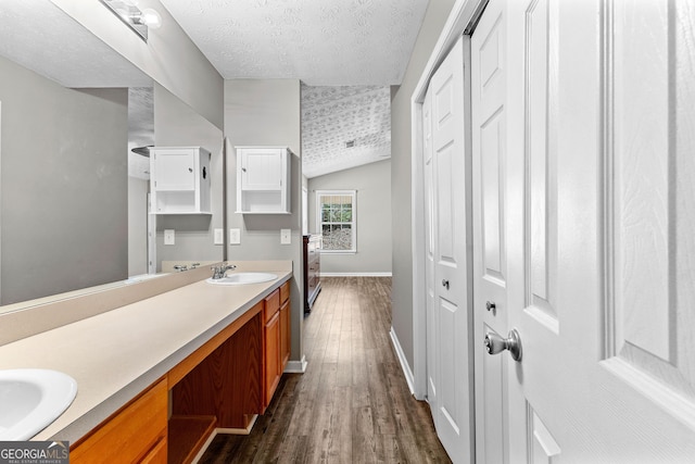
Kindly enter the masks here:
<path id="1" fill-rule="evenodd" d="M 154 84 L 154 142 L 159 147 L 203 147 L 211 152 L 212 215 L 156 216 L 157 272 L 162 261 L 222 261 L 224 246 L 214 244 L 214 229 L 223 228 L 223 133 L 172 92 Z M 164 229 L 175 230 L 175 244 L 164 244 Z"/>

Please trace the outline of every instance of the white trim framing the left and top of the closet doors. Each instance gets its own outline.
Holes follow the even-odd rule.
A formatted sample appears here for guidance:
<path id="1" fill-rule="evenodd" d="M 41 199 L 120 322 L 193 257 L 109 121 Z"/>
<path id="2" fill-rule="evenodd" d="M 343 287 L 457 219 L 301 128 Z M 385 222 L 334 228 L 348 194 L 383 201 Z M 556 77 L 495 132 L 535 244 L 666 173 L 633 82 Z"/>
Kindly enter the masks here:
<path id="1" fill-rule="evenodd" d="M 434 49 L 410 97 L 410 221 L 413 230 L 413 393 L 418 400 L 427 394 L 427 304 L 425 183 L 422 166 L 422 103 L 430 78 L 464 30 L 477 20 L 488 0 L 456 0 Z M 467 86 L 469 86 L 467 84 Z"/>

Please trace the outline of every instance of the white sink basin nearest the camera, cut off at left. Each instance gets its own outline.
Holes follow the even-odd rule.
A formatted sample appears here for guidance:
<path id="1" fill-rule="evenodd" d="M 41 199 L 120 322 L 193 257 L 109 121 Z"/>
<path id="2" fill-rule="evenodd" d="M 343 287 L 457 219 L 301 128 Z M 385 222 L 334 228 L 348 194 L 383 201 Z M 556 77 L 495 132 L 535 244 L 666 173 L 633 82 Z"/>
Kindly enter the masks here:
<path id="1" fill-rule="evenodd" d="M 76 394 L 75 379 L 58 371 L 0 371 L 0 441 L 34 437 L 63 414 Z"/>

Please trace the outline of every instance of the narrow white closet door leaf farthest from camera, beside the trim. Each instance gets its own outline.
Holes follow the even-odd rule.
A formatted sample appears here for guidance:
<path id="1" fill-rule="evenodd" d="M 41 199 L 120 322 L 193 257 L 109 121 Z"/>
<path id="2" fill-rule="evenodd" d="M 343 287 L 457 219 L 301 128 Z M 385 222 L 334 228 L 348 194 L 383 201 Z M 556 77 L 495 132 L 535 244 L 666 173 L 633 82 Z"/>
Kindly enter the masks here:
<path id="1" fill-rule="evenodd" d="M 472 459 L 472 379 L 467 253 L 467 173 L 464 116 L 464 45 L 459 40 L 430 81 L 432 120 L 432 338 L 437 401 L 434 424 L 454 462 Z M 427 172 L 426 175 L 429 175 Z M 429 322 L 429 321 L 428 321 Z"/>

